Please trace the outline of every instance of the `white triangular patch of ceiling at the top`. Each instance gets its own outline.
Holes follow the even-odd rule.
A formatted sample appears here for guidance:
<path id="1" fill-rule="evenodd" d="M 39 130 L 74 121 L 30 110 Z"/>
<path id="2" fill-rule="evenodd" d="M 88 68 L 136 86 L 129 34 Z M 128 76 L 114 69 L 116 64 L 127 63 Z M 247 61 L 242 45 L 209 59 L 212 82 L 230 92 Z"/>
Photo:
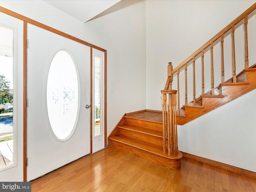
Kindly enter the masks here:
<path id="1" fill-rule="evenodd" d="M 66 14 L 87 22 L 120 0 L 44 0 Z"/>

